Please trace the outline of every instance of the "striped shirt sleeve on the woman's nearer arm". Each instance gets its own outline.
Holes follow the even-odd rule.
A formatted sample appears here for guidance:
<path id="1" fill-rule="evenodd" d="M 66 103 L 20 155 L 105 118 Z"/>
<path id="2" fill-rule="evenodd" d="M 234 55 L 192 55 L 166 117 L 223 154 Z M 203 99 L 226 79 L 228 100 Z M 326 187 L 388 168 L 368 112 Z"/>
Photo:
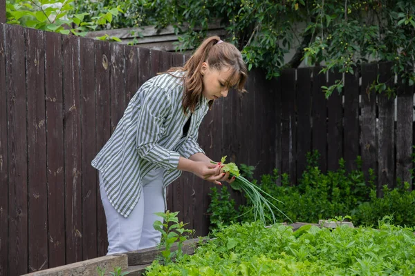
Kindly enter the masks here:
<path id="1" fill-rule="evenodd" d="M 172 108 L 171 99 L 165 90 L 158 87 L 149 87 L 142 93 L 136 132 L 138 155 L 157 166 L 176 169 L 180 157 L 178 152 L 158 145 L 164 132 L 163 121 Z"/>

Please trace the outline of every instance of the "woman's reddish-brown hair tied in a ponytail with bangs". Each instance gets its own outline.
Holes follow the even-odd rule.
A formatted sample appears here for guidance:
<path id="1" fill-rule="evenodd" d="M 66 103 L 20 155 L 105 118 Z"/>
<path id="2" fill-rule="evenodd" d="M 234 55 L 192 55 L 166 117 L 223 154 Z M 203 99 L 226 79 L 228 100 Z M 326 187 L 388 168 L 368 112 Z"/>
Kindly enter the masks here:
<path id="1" fill-rule="evenodd" d="M 174 71 L 185 71 L 183 86 L 183 112 L 194 112 L 197 103 L 201 100 L 203 92 L 203 75 L 201 74 L 202 63 L 207 61 L 209 67 L 222 70 L 229 67 L 232 70 L 230 79 L 226 81 L 226 86 L 235 88 L 239 92 L 246 92 L 243 88 L 248 71 L 243 62 L 241 52 L 230 43 L 221 41 L 219 37 L 209 37 L 205 39 L 196 52 L 186 61 L 183 67 L 174 67 L 167 70 L 167 73 Z M 209 102 L 212 106 L 213 100 Z"/>

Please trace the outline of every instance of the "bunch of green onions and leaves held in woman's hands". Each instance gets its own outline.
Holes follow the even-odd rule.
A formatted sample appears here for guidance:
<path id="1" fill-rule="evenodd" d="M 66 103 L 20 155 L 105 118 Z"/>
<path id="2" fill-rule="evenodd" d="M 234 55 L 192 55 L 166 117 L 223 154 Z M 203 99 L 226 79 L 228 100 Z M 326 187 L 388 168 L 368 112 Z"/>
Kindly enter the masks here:
<path id="1" fill-rule="evenodd" d="M 272 202 L 270 202 L 268 199 L 266 199 L 266 197 L 264 197 L 263 195 L 266 195 L 270 199 L 274 199 L 275 201 L 278 201 L 278 202 L 284 204 L 282 201 L 280 201 L 280 200 L 276 199 L 275 197 L 273 197 L 272 195 L 266 193 L 264 190 L 261 190 L 261 188 L 259 188 L 259 186 L 255 185 L 255 184 L 252 184 L 245 177 L 242 177 L 241 174 L 239 173 L 239 168 L 237 167 L 237 165 L 234 164 L 234 163 L 225 164 L 225 159 L 226 159 L 226 156 L 222 157 L 222 159 L 221 159 L 221 164 L 223 165 L 222 170 L 223 170 L 223 172 L 229 172 L 230 176 L 235 177 L 232 184 L 230 184 L 232 189 L 243 191 L 244 193 L 246 193 L 246 196 L 248 197 L 248 199 L 250 199 L 250 201 L 252 202 L 252 205 L 253 205 L 252 208 L 253 208 L 254 219 L 255 220 L 257 220 L 257 218 L 258 218 L 265 225 L 266 224 L 265 210 L 268 209 L 270 211 L 271 216 L 272 216 L 273 224 L 275 224 L 277 222 L 276 219 L 275 219 L 274 210 L 277 210 L 279 213 L 282 213 L 282 215 L 284 215 L 284 217 L 286 217 L 287 219 L 289 219 L 291 221 L 291 219 L 289 217 L 287 217 L 287 215 L 285 215 L 282 212 L 282 210 L 279 210 L 279 208 L 277 208 L 277 206 L 275 206 Z M 217 164 L 217 163 L 212 161 L 212 164 Z M 291 221 L 291 222 L 293 222 L 293 221 Z"/>

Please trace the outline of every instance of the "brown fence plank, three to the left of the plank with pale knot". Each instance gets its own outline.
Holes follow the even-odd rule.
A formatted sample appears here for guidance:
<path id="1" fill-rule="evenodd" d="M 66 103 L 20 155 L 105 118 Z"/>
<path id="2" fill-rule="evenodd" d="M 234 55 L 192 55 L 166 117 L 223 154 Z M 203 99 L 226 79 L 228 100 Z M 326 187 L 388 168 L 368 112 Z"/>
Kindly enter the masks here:
<path id="1" fill-rule="evenodd" d="M 62 37 L 45 32 L 46 148 L 48 164 L 48 265 L 65 264 L 64 115 Z"/>

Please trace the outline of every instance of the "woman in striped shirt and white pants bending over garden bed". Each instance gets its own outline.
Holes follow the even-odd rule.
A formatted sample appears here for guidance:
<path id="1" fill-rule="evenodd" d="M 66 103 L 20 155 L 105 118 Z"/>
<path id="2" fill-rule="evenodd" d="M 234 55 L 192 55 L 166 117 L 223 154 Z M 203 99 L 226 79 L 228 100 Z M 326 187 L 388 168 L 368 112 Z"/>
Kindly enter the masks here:
<path id="1" fill-rule="evenodd" d="M 134 95 L 113 135 L 93 159 L 99 170 L 107 217 L 108 254 L 156 246 L 154 213 L 165 211 L 165 188 L 192 172 L 214 184 L 232 183 L 197 143 L 213 101 L 230 87 L 243 92 L 247 70 L 241 52 L 219 37 L 203 41 L 180 68 L 146 81 Z"/>

